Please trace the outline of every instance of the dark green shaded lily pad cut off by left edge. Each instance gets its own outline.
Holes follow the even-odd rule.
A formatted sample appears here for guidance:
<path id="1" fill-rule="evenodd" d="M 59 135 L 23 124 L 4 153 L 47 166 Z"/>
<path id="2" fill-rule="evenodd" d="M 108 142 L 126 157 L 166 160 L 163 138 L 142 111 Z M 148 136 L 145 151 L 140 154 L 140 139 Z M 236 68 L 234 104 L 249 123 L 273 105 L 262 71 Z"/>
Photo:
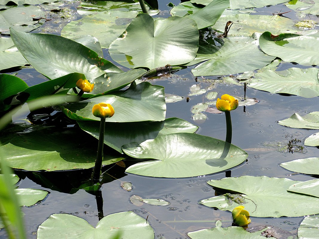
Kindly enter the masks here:
<path id="1" fill-rule="evenodd" d="M 11 105 L 5 105 L 4 99 L 15 95 L 28 88 L 28 85 L 19 77 L 1 74 L 0 75 L 0 111 L 8 110 Z"/>

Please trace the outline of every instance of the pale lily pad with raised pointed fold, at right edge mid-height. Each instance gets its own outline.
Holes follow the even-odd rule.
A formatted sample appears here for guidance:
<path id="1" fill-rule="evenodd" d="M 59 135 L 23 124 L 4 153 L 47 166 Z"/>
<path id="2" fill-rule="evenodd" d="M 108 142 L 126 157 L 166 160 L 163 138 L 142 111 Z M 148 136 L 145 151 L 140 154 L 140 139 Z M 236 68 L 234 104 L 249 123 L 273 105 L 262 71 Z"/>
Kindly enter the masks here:
<path id="1" fill-rule="evenodd" d="M 319 129 L 319 111 L 311 112 L 305 116 L 294 113 L 286 120 L 279 120 L 278 124 L 290 128 Z"/>

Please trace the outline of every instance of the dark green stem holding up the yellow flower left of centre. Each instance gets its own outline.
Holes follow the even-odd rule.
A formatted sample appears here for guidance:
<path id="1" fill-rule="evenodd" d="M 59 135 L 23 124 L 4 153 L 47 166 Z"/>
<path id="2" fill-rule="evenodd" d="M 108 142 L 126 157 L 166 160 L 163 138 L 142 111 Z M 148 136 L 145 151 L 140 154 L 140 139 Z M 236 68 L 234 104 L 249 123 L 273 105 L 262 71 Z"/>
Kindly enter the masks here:
<path id="1" fill-rule="evenodd" d="M 105 118 L 101 118 L 98 152 L 96 155 L 94 170 L 92 174 L 93 183 L 98 183 L 100 181 L 102 160 L 103 160 L 104 130 L 105 130 Z"/>

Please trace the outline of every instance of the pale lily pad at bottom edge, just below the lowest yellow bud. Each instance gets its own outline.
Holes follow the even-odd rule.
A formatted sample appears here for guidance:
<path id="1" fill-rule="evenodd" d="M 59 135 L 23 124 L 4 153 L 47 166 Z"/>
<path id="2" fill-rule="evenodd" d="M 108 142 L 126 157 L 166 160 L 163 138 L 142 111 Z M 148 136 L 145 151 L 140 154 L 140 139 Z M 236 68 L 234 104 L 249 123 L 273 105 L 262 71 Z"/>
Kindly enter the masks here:
<path id="1" fill-rule="evenodd" d="M 250 233 L 242 227 L 215 227 L 211 229 L 202 229 L 194 232 L 189 232 L 187 235 L 192 239 L 264 239 L 260 232 Z"/>

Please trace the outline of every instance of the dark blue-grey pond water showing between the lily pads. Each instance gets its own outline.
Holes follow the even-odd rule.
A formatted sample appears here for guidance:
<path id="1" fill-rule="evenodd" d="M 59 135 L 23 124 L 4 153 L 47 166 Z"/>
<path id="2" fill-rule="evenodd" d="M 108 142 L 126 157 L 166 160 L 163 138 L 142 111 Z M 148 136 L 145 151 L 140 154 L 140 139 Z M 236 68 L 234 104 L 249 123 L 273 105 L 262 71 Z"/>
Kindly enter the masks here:
<path id="1" fill-rule="evenodd" d="M 161 16 L 168 17 L 171 8 L 167 6 L 169 2 L 177 5 L 180 1 L 159 1 L 159 9 L 164 11 Z M 259 14 L 271 14 L 271 12 L 286 11 L 282 4 L 259 9 Z M 258 13 L 257 12 L 257 13 Z M 291 18 L 295 16 L 290 13 Z M 156 17 L 156 16 L 154 16 Z M 41 30 L 41 29 L 40 29 Z M 38 31 L 40 31 L 38 30 Z M 111 61 L 108 51 L 104 50 L 104 58 Z M 117 63 L 115 63 L 118 65 Z M 291 63 L 281 64 L 279 69 L 290 67 L 301 67 Z M 244 97 L 244 87 L 219 83 L 215 80 L 218 77 L 195 77 L 190 73 L 190 68 L 183 69 L 175 75 L 167 78 L 151 80 L 150 83 L 165 87 L 165 93 L 187 97 L 190 86 L 199 84 L 202 89 L 209 88 L 209 91 L 217 91 L 218 96 L 230 94 L 237 97 Z M 19 71 L 19 77 L 29 84 L 42 82 L 43 77 L 39 76 L 33 69 L 23 69 Z M 207 120 L 192 120 L 192 106 L 207 102 L 205 94 L 190 96 L 189 102 L 185 99 L 175 103 L 167 103 L 166 118 L 178 117 L 199 126 L 197 134 L 202 134 L 225 140 L 226 125 L 225 115 L 205 112 Z M 125 168 L 118 165 L 112 166 L 105 173 L 105 180 L 101 187 L 103 198 L 104 216 L 116 212 L 133 210 L 151 224 L 155 231 L 155 238 L 189 238 L 186 233 L 203 228 L 215 226 L 216 220 L 222 220 L 223 227 L 231 226 L 232 216 L 228 211 L 216 210 L 198 204 L 198 201 L 215 195 L 215 191 L 206 181 L 220 179 L 223 177 L 239 177 L 243 175 L 288 177 L 293 180 L 306 181 L 314 177 L 304 174 L 293 174 L 279 166 L 280 163 L 292 161 L 294 159 L 315 157 L 318 149 L 315 147 L 304 147 L 302 152 L 289 153 L 286 145 L 292 139 L 303 141 L 309 135 L 315 133 L 313 130 L 293 129 L 278 125 L 278 120 L 290 117 L 293 113 L 299 112 L 305 115 L 309 112 L 319 111 L 318 98 L 303 98 L 299 96 L 288 96 L 271 94 L 247 87 L 246 98 L 257 98 L 259 102 L 255 105 L 239 106 L 232 111 L 233 138 L 232 143 L 248 153 L 246 162 L 234 167 L 226 172 L 213 175 L 191 178 L 152 178 L 142 177 L 124 173 Z M 18 120 L 17 120 L 18 121 Z M 125 161 L 126 167 L 133 164 Z M 135 163 L 135 162 L 134 162 Z M 65 183 L 67 177 L 81 177 L 87 170 L 72 172 L 46 172 L 45 177 L 57 177 L 57 184 L 60 188 L 45 186 L 45 183 L 34 182 L 34 175 L 26 171 L 15 171 L 21 180 L 19 188 L 36 188 L 49 192 L 49 195 L 36 206 L 23 207 L 25 214 L 25 224 L 28 238 L 36 238 L 36 231 L 39 225 L 51 214 L 67 213 L 76 215 L 88 221 L 92 226 L 96 226 L 99 221 L 96 195 L 79 190 L 73 194 L 67 193 L 69 188 Z M 61 180 L 59 180 L 61 178 Z M 34 181 L 33 181 L 34 180 Z M 121 182 L 131 182 L 133 189 L 127 192 L 121 188 Z M 65 186 L 65 188 L 64 188 Z M 144 204 L 135 206 L 130 202 L 131 195 L 139 195 L 143 198 L 165 199 L 170 202 L 168 206 L 151 206 Z M 289 206 L 289 205 L 287 205 Z M 296 218 L 256 218 L 252 217 L 249 226 L 274 225 L 285 230 L 296 233 L 303 217 Z M 0 231 L 0 239 L 7 238 L 4 230 Z"/>

